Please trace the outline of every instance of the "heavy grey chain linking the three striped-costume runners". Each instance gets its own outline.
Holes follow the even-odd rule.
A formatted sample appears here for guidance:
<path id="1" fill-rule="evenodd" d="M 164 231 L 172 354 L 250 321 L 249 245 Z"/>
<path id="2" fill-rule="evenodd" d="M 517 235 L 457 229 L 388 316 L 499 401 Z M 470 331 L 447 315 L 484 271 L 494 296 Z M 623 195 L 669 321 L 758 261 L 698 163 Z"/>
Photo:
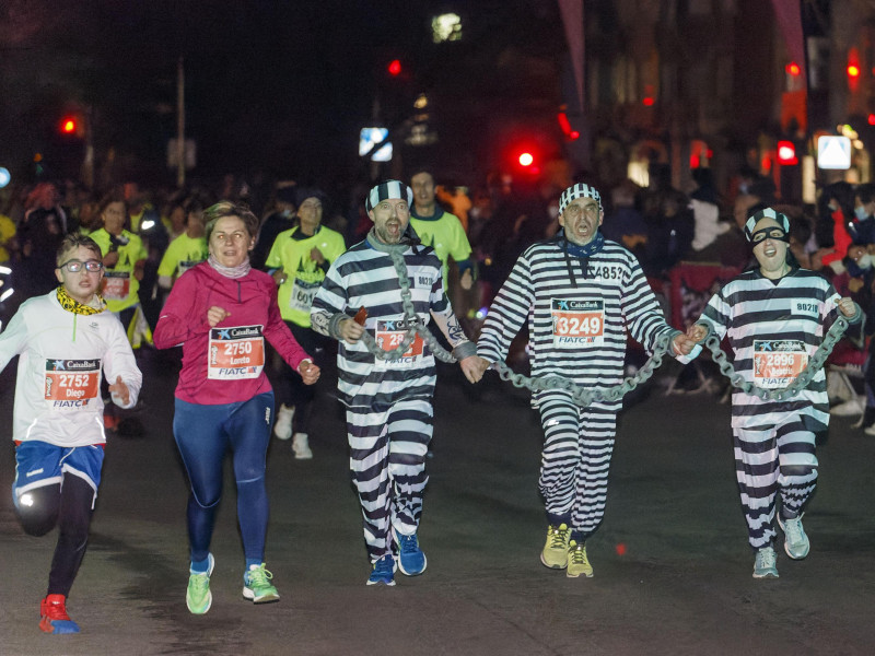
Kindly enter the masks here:
<path id="1" fill-rule="evenodd" d="M 444 349 L 441 343 L 434 338 L 431 331 L 420 321 L 419 316 L 413 307 L 413 301 L 410 295 L 410 280 L 407 276 L 407 262 L 405 262 L 404 254 L 400 249 L 392 249 L 387 251 L 395 266 L 395 271 L 398 274 L 398 283 L 401 288 L 401 304 L 405 311 L 405 323 L 408 328 L 405 329 L 401 342 L 394 349 L 384 350 L 376 343 L 374 337 L 365 331 L 362 335 L 362 342 L 368 348 L 368 351 L 380 360 L 399 360 L 410 348 L 410 344 L 419 335 L 423 341 L 429 345 L 434 355 L 442 362 L 454 363 L 458 362 L 455 355 Z M 788 397 L 795 396 L 802 391 L 814 379 L 830 353 L 836 347 L 838 341 L 848 329 L 849 321 L 847 318 L 839 315 L 836 321 L 830 327 L 824 341 L 815 351 L 808 361 L 806 367 L 796 376 L 790 385 L 780 389 L 765 389 L 758 387 L 752 383 L 744 379 L 742 374 L 735 371 L 735 367 L 728 361 L 726 353 L 720 348 L 720 339 L 713 333 L 709 327 L 709 335 L 704 339 L 704 345 L 711 351 L 711 356 L 714 362 L 720 366 L 720 373 L 728 378 L 730 384 L 737 387 L 745 394 L 755 395 L 763 400 L 782 401 Z M 597 401 L 617 401 L 625 397 L 628 393 L 634 390 L 639 385 L 646 383 L 662 365 L 663 358 L 668 352 L 669 341 L 677 335 L 677 332 L 666 332 L 656 338 L 653 354 L 648 361 L 639 368 L 633 375 L 627 376 L 618 385 L 611 385 L 599 389 L 587 389 L 581 387 L 576 383 L 559 376 L 546 376 L 542 378 L 526 376 L 524 374 L 515 373 L 505 362 L 495 362 L 494 368 L 499 373 L 502 380 L 510 380 L 514 387 L 526 388 L 529 391 L 545 391 L 550 389 L 563 389 L 571 393 L 574 402 L 581 407 L 591 406 Z"/>

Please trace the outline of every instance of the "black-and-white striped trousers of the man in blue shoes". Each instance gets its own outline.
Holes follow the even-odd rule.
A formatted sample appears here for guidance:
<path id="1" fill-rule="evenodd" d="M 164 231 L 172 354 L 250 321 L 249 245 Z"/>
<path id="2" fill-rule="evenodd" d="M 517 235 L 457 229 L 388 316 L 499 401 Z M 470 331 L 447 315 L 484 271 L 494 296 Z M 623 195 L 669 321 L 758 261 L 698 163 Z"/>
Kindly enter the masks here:
<path id="1" fill-rule="evenodd" d="M 381 412 L 347 409 L 350 471 L 371 562 L 392 553 L 393 524 L 407 534 L 419 526 L 432 417 L 431 403 L 421 399 L 399 401 Z"/>

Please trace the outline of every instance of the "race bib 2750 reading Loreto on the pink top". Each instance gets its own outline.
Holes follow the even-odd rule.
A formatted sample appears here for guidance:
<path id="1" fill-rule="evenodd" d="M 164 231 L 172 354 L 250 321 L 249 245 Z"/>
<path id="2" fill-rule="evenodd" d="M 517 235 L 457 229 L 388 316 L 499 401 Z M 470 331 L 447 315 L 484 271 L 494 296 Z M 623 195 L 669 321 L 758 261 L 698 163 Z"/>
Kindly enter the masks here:
<path id="1" fill-rule="evenodd" d="M 265 367 L 261 326 L 211 328 L 207 377 L 211 380 L 257 378 Z"/>

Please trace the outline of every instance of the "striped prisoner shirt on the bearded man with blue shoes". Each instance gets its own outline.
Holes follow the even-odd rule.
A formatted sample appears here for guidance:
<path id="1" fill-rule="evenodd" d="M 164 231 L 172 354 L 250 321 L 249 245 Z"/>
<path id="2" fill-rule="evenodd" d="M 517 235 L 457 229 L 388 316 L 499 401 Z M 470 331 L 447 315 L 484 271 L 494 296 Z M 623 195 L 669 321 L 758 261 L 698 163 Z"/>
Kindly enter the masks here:
<path id="1" fill-rule="evenodd" d="M 428 324 L 432 312 L 453 317 L 444 293 L 441 260 L 434 250 L 416 246 L 408 248 L 404 257 L 420 323 Z M 368 311 L 365 329 L 386 350 L 400 343 L 406 324 L 398 274 L 390 256 L 375 250 L 366 241 L 337 258 L 326 273 L 311 309 L 313 328 L 328 335 L 328 317 L 338 313 L 352 317 L 360 307 Z M 318 315 L 323 315 L 320 319 Z M 397 361 L 376 360 L 361 340 L 355 343 L 340 340 L 337 353 L 340 400 L 348 407 L 380 410 L 399 400 L 430 399 L 435 384 L 434 355 L 419 337 L 406 355 Z"/>

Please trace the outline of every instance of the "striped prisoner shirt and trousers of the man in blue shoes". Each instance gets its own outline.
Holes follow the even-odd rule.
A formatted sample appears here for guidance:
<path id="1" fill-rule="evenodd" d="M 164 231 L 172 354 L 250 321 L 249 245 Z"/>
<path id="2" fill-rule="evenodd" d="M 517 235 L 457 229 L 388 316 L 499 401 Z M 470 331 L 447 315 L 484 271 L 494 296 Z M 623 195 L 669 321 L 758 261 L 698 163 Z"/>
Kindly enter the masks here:
<path id="1" fill-rule="evenodd" d="M 456 331 L 453 347 L 467 341 L 444 293 L 441 260 L 431 248 L 405 253 L 410 293 L 420 323 L 430 313 Z M 386 350 L 400 343 L 405 329 L 398 274 L 387 253 L 361 242 L 331 265 L 311 309 L 314 330 L 330 335 L 329 318 L 368 311 L 365 329 Z M 337 338 L 337 335 L 331 335 Z M 339 340 L 338 390 L 347 407 L 350 470 L 364 518 L 364 540 L 371 562 L 392 553 L 392 527 L 416 532 L 429 478 L 425 454 L 432 437 L 434 355 L 417 336 L 400 360 L 376 360 L 363 341 Z"/>

